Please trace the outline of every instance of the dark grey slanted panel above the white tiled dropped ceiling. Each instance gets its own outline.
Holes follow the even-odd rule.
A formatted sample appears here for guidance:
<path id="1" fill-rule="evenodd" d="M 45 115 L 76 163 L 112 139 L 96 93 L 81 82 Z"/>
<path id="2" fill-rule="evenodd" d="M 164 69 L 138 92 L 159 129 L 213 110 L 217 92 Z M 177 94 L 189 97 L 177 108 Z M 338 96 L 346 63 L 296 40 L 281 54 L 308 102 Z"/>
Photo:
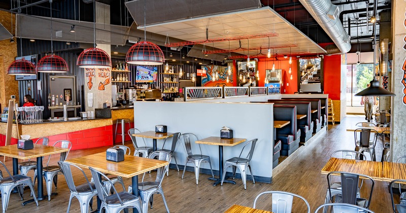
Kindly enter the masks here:
<path id="1" fill-rule="evenodd" d="M 260 7 L 259 0 L 134 0 L 125 3 L 137 25 L 184 20 Z M 145 14 L 145 15 L 144 15 Z"/>

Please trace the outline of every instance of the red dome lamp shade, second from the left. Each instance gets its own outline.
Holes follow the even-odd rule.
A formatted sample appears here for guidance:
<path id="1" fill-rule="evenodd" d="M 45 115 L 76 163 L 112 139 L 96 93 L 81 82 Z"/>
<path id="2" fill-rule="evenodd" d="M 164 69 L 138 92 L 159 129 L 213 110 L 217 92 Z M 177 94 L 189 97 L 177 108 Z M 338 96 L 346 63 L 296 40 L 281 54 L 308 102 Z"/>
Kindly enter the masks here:
<path id="1" fill-rule="evenodd" d="M 66 61 L 57 55 L 47 55 L 38 62 L 37 72 L 66 73 L 69 71 Z"/>

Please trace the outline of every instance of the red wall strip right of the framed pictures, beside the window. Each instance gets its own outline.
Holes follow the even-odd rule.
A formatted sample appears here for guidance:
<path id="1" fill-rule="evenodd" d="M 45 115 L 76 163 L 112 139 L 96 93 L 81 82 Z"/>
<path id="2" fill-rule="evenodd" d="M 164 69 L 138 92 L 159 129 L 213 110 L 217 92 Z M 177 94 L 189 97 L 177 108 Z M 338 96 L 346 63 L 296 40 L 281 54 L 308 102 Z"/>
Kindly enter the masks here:
<path id="1" fill-rule="evenodd" d="M 324 94 L 332 100 L 340 100 L 341 55 L 324 56 Z"/>

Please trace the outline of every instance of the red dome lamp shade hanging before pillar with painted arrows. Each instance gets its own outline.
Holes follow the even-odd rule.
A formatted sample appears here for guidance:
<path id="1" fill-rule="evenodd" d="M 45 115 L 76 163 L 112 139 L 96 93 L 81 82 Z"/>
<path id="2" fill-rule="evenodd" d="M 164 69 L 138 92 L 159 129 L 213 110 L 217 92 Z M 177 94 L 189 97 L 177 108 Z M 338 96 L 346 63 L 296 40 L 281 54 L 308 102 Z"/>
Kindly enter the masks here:
<path id="1" fill-rule="evenodd" d="M 89 48 L 79 55 L 76 65 L 82 68 L 109 68 L 111 59 L 104 50 Z"/>

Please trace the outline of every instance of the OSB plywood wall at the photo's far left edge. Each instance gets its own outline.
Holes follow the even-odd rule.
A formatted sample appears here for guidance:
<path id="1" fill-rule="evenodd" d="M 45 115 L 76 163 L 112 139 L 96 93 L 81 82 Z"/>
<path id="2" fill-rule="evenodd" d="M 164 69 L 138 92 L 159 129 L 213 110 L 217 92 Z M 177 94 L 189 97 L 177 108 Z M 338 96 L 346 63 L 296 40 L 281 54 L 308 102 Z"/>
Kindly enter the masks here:
<path id="1" fill-rule="evenodd" d="M 15 20 L 15 16 L 13 16 Z M 0 11 L 0 23 L 11 32 L 11 14 L 5 11 Z M 15 29 L 15 21 L 13 21 L 13 29 Z M 13 34 L 14 34 L 13 30 Z M 0 41 L 0 103 L 2 110 L 8 107 L 8 102 L 11 95 L 15 95 L 18 100 L 18 82 L 15 76 L 7 75 L 7 68 L 10 63 L 17 57 L 17 43 L 10 43 L 10 40 Z"/>

